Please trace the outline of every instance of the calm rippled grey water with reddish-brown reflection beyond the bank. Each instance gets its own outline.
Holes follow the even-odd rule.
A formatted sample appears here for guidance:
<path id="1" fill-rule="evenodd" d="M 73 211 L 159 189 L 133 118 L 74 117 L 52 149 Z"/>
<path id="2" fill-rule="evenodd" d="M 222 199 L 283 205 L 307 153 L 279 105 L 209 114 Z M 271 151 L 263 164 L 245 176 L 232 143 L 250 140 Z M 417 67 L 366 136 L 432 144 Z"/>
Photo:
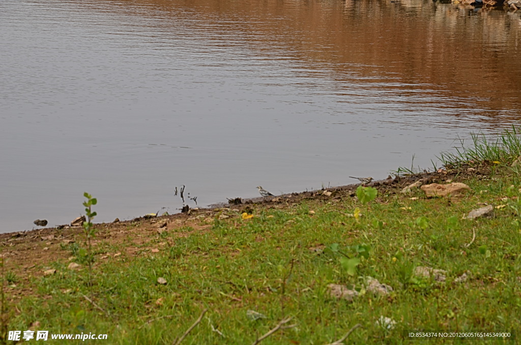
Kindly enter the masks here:
<path id="1" fill-rule="evenodd" d="M 177 212 L 183 184 L 205 206 L 385 178 L 521 117 L 521 11 L 2 0 L 0 23 L 0 232 L 84 191 L 111 221 Z"/>

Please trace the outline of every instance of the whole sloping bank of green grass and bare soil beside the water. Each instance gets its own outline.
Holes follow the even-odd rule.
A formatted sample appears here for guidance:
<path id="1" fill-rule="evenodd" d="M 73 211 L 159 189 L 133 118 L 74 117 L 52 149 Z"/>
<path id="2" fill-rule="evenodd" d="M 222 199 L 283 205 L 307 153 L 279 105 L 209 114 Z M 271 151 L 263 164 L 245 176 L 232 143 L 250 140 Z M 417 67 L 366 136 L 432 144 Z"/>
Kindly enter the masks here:
<path id="1" fill-rule="evenodd" d="M 44 240 L 6 235 L 4 330 L 92 332 L 108 339 L 90 342 L 114 344 L 172 344 L 183 334 L 183 344 L 249 344 L 288 317 L 282 327 L 293 327 L 263 344 L 332 343 L 357 324 L 346 343 L 408 342 L 403 330 L 519 330 L 521 183 L 511 167 L 518 142 L 486 140 L 499 155 L 473 155 L 483 143 L 475 138 L 470 149 L 442 155 L 446 169 L 375 183 L 378 195 L 365 204 L 349 187 L 96 225 L 91 279 L 79 260 L 81 229 L 49 229 L 45 236 L 55 237 Z M 400 193 L 418 179 L 463 182 L 470 191 Z M 463 219 L 484 204 L 494 206 L 491 217 Z M 39 256 L 22 261 L 28 252 Z M 445 279 L 417 275 L 418 266 L 442 269 Z M 44 276 L 49 269 L 56 272 Z M 392 291 L 368 291 L 369 276 Z M 331 297 L 329 284 L 358 296 Z M 382 316 L 392 325 L 378 323 Z"/>

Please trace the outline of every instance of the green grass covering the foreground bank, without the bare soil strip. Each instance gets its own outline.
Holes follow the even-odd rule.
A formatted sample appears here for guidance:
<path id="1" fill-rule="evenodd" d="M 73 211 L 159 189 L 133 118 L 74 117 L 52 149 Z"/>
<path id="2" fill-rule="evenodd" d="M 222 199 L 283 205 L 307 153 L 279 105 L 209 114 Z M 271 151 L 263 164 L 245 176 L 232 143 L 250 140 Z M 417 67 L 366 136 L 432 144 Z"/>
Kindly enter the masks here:
<path id="1" fill-rule="evenodd" d="M 186 238 L 172 232 L 175 244 L 162 253 L 122 255 L 96 266 L 91 287 L 85 272 L 55 263 L 58 274 L 34 279 L 40 297 L 17 305 L 21 314 L 11 319 L 10 329 L 25 330 L 40 321 L 41 329 L 55 333 L 106 333 L 107 343 L 166 344 L 181 336 L 205 308 L 206 317 L 183 343 L 252 343 L 288 315 L 297 326 L 263 343 L 324 344 L 341 338 L 356 323 L 363 328 L 349 337 L 354 343 L 402 343 L 403 329 L 520 329 L 517 216 L 504 207 L 494 218 L 461 218 L 482 202 L 507 204 L 501 198 L 518 196 L 521 186 L 516 180 L 510 188 L 514 181 L 508 177 L 502 177 L 502 188 L 491 188 L 492 180 L 466 182 L 474 192 L 450 203 L 400 196 L 365 206 L 355 200 L 309 201 L 287 210 L 261 210 L 237 226 L 237 218 L 216 221 L 211 231 Z M 352 212 L 354 207 L 362 210 L 359 221 L 328 212 Z M 467 248 L 473 230 L 476 239 Z M 334 252 L 309 250 L 333 243 L 340 249 L 370 245 L 355 276 L 345 272 Z M 413 278 L 416 266 L 445 269 L 448 279 Z M 454 283 L 464 272 L 469 272 L 469 280 Z M 326 294 L 330 283 L 360 286 L 365 276 L 392 286 L 394 292 L 387 297 L 366 293 L 354 302 Z M 158 277 L 168 284 L 157 284 Z M 252 321 L 247 310 L 266 318 Z M 375 325 L 381 315 L 398 322 L 396 328 Z"/>

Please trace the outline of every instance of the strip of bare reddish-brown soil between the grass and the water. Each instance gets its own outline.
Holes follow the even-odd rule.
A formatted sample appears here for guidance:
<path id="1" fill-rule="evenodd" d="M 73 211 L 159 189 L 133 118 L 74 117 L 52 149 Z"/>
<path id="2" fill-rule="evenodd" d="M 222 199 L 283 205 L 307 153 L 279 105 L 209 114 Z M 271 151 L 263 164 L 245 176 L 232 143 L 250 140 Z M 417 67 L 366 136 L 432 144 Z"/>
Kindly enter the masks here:
<path id="1" fill-rule="evenodd" d="M 399 194 L 402 188 L 409 184 L 423 180 L 425 183 L 441 182 L 458 175 L 458 172 L 423 172 L 411 176 L 395 177 L 391 179 L 373 181 L 368 187 L 377 188 L 379 195 Z M 460 174 L 461 176 L 461 174 Z M 130 220 L 122 220 L 112 223 L 94 223 L 96 236 L 93 237 L 94 245 L 101 242 L 121 243 L 127 237 L 143 238 L 162 234 L 163 232 L 180 231 L 182 236 L 190 236 L 197 231 L 211 229 L 215 221 L 226 219 L 240 219 L 243 212 L 256 214 L 268 210 L 290 210 L 295 205 L 309 201 L 317 202 L 341 202 L 355 198 L 356 188 L 359 183 L 345 186 L 330 187 L 328 189 L 289 193 L 264 199 L 262 197 L 243 200 L 241 204 L 222 204 L 208 208 L 190 208 L 188 212 L 171 215 L 140 216 Z M 95 206 L 93 206 L 93 211 Z M 42 229 L 22 230 L 0 234 L 0 252 L 4 257 L 14 259 L 16 262 L 6 267 L 18 267 L 22 273 L 24 270 L 33 269 L 44 262 L 64 259 L 60 254 L 71 244 L 84 242 L 85 234 L 82 226 L 68 226 L 65 228 L 47 227 Z M 53 250 L 55 248 L 56 250 Z"/>

